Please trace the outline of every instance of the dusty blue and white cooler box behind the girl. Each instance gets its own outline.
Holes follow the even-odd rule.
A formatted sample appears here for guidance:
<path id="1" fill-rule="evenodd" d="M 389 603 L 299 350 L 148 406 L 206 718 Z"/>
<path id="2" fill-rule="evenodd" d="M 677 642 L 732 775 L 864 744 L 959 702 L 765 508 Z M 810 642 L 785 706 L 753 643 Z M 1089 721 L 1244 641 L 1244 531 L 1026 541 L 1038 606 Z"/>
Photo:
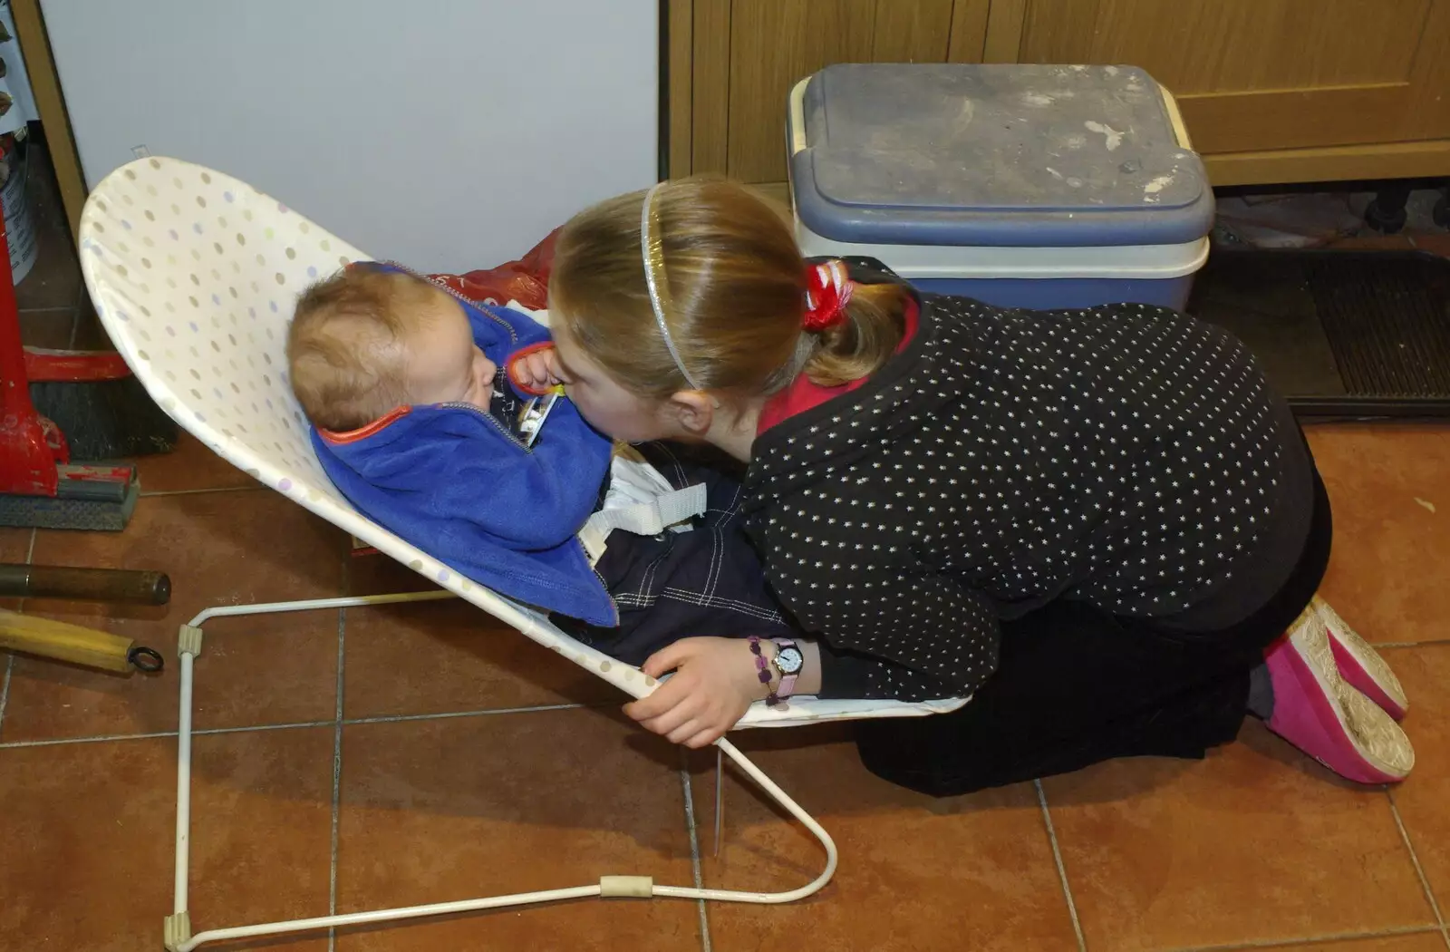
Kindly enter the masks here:
<path id="1" fill-rule="evenodd" d="M 1182 309 L 1214 193 L 1173 97 L 1130 67 L 841 64 L 787 122 L 796 239 L 1014 308 Z"/>

